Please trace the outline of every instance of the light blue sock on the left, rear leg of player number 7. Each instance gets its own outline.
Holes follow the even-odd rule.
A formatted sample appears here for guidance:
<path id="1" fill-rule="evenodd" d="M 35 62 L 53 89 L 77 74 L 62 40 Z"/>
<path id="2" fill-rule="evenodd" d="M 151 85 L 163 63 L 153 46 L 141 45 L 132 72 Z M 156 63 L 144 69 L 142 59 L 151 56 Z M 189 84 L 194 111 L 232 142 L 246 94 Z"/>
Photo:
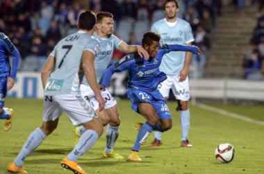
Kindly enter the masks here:
<path id="1" fill-rule="evenodd" d="M 23 165 L 24 160 L 26 157 L 35 150 L 35 148 L 42 143 L 42 140 L 46 138 L 46 134 L 42 132 L 40 127 L 35 129 L 26 140 L 26 143 L 24 143 L 22 150 L 20 150 L 19 154 L 17 155 L 17 158 L 14 160 L 14 163 L 16 166 L 20 167 Z"/>

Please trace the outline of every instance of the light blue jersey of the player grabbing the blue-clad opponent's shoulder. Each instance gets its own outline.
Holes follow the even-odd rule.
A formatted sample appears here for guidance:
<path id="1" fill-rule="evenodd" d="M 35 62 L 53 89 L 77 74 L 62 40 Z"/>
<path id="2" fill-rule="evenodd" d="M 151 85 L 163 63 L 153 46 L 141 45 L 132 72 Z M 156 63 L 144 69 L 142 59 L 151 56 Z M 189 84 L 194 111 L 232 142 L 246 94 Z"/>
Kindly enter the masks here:
<path id="1" fill-rule="evenodd" d="M 94 58 L 94 68 L 97 74 L 97 83 L 99 83 L 101 77 L 103 76 L 110 60 L 113 56 L 114 49 L 117 49 L 118 45 L 122 40 L 119 40 L 115 35 L 111 35 L 109 38 L 100 38 L 97 33 L 94 33 L 94 38 L 97 38 L 100 42 L 100 49 Z M 88 81 L 83 78 L 83 84 L 89 85 Z"/>

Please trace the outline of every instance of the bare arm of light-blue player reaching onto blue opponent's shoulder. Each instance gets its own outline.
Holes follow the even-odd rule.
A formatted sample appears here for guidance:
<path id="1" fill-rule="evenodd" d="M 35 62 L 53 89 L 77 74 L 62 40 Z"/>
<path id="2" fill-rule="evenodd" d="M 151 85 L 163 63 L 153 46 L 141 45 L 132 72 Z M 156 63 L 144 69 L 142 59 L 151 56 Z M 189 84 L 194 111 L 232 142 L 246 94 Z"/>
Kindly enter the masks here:
<path id="1" fill-rule="evenodd" d="M 147 50 L 142 48 L 140 45 L 127 45 L 126 42 L 121 42 L 117 49 L 126 54 L 138 52 L 141 58 L 144 57 L 146 61 L 149 60 L 149 54 L 147 53 Z"/>

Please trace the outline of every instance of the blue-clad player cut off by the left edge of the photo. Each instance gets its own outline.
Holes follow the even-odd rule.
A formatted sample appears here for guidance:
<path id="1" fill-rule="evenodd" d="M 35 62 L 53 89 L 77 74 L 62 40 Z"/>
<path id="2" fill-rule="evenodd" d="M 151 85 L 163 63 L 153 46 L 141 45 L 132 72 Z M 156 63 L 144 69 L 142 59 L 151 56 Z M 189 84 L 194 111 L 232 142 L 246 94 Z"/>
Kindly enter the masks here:
<path id="1" fill-rule="evenodd" d="M 9 54 L 13 55 L 12 68 L 10 66 Z M 12 126 L 14 111 L 3 106 L 6 93 L 15 84 L 17 68 L 19 63 L 19 52 L 9 40 L 8 36 L 0 32 L 0 119 L 3 122 L 3 130 L 8 131 Z"/>

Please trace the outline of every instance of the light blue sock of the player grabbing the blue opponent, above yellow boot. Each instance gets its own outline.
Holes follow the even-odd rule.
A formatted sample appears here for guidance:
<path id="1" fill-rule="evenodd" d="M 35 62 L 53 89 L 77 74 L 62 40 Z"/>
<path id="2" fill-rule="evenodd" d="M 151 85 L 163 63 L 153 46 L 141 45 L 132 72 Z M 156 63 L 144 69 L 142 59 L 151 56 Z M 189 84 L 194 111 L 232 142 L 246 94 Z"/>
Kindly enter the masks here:
<path id="1" fill-rule="evenodd" d="M 107 125 L 106 127 L 106 147 L 104 148 L 104 152 L 110 152 L 117 140 L 119 135 L 119 126 L 111 126 Z"/>

